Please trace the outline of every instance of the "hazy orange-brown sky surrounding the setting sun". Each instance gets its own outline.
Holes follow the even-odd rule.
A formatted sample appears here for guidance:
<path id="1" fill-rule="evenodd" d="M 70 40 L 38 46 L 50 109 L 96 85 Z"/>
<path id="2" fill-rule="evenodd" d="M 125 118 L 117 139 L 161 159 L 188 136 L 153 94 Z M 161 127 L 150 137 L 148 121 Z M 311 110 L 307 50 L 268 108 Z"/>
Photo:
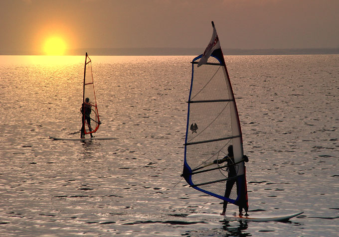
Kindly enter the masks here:
<path id="1" fill-rule="evenodd" d="M 339 47 L 339 0 L 0 0 L 0 50 Z"/>

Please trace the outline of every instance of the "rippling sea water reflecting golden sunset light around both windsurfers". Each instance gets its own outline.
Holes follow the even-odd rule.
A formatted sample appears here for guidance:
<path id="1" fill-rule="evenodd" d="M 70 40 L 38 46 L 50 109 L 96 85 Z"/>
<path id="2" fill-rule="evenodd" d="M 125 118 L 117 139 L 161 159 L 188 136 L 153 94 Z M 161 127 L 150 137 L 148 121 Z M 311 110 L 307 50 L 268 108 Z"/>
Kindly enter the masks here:
<path id="1" fill-rule="evenodd" d="M 49 136 L 80 137 L 85 57 L 0 56 L 1 236 L 338 236 L 339 55 L 225 56 L 249 214 L 286 223 L 186 218 L 222 209 L 180 177 L 192 58 L 92 56 L 117 140 L 81 142 Z"/>

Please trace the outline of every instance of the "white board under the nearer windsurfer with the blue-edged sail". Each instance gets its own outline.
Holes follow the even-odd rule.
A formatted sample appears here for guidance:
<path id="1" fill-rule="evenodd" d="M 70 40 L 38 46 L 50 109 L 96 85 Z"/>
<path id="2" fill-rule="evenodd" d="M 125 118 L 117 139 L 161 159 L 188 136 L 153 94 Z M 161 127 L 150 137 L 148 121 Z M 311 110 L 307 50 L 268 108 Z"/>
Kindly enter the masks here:
<path id="1" fill-rule="evenodd" d="M 281 222 L 281 221 L 287 221 L 293 217 L 297 217 L 304 212 L 298 212 L 294 213 L 291 215 L 283 215 L 283 216 L 273 216 L 273 215 L 255 215 L 255 214 L 250 214 L 249 216 L 222 216 L 217 213 L 199 213 L 199 214 L 191 214 L 188 215 L 188 218 L 223 218 L 227 221 L 251 221 L 251 222 Z"/>

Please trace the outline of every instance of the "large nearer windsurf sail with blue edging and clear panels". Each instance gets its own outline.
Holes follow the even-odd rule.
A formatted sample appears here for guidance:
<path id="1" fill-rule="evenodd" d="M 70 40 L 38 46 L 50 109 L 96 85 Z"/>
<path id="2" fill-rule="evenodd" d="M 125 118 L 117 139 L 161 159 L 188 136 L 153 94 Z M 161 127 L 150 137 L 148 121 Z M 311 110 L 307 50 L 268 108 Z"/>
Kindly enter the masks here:
<path id="1" fill-rule="evenodd" d="M 212 26 L 213 35 L 205 52 L 191 62 L 182 176 L 190 187 L 248 210 L 240 121 L 213 21 Z M 228 154 L 230 145 L 236 170 L 233 176 L 227 162 L 215 162 Z M 226 182 L 231 180 L 236 185 L 225 197 Z"/>

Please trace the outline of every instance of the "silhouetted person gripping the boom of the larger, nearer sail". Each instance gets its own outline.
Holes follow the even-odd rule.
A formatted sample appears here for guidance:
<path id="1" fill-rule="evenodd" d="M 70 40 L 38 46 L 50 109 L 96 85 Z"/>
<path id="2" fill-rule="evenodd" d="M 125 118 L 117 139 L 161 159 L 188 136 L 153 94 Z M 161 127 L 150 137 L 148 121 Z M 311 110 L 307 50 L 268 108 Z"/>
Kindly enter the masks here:
<path id="1" fill-rule="evenodd" d="M 226 190 L 225 190 L 225 198 L 229 198 L 229 195 L 231 194 L 232 188 L 234 183 L 236 183 L 236 187 L 237 187 L 237 194 L 239 197 L 239 201 L 238 201 L 238 206 L 239 206 L 239 216 L 242 216 L 242 210 L 245 209 L 245 216 L 248 216 L 247 214 L 247 205 L 246 205 L 246 193 L 245 191 L 245 185 L 244 183 L 239 183 L 238 178 L 237 178 L 237 172 L 235 170 L 235 162 L 234 162 L 234 155 L 233 155 L 233 145 L 229 145 L 227 148 L 227 152 L 228 154 L 220 159 L 220 160 L 214 160 L 213 163 L 214 164 L 221 164 L 223 162 L 227 162 L 228 165 L 228 178 L 230 178 L 229 180 L 227 180 L 226 182 Z M 245 162 L 248 162 L 248 157 L 246 155 L 243 156 L 243 159 Z M 242 193 L 239 193 L 241 192 Z M 222 213 L 220 215 L 225 215 L 226 213 L 226 208 L 227 208 L 227 201 L 224 200 L 224 204 L 223 204 L 223 209 L 222 209 Z"/>

